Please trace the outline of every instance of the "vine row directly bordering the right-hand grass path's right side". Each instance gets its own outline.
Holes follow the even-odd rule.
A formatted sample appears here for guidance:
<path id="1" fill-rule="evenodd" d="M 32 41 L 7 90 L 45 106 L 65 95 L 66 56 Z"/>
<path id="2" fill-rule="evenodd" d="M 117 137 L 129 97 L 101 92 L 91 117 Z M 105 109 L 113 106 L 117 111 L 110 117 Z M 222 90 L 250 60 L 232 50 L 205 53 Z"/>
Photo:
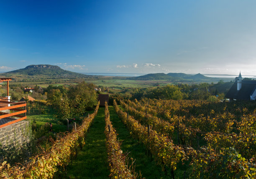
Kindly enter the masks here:
<path id="1" fill-rule="evenodd" d="M 180 161 L 188 159 L 183 148 L 173 144 L 169 136 L 158 134 L 155 130 L 151 130 L 150 128 L 147 129 L 126 112 L 123 112 L 117 106 L 115 100 L 113 103 L 116 113 L 125 126 L 127 126 L 130 134 L 149 149 L 151 154 L 155 156 L 157 164 L 161 165 L 163 171 L 165 171 L 165 167 L 167 166 L 172 169 L 173 173 L 173 170 L 176 169 Z"/>

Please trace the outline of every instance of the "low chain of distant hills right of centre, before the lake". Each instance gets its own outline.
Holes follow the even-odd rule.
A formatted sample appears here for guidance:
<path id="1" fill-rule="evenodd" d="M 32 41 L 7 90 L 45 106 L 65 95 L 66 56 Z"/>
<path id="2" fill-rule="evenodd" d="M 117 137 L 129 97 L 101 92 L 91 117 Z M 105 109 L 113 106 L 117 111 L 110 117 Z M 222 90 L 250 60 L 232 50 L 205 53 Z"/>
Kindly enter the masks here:
<path id="1" fill-rule="evenodd" d="M 198 73 L 188 75 L 185 73 L 150 73 L 143 76 L 134 77 L 135 80 L 189 80 L 189 81 L 218 81 L 218 78 L 210 78 Z"/>

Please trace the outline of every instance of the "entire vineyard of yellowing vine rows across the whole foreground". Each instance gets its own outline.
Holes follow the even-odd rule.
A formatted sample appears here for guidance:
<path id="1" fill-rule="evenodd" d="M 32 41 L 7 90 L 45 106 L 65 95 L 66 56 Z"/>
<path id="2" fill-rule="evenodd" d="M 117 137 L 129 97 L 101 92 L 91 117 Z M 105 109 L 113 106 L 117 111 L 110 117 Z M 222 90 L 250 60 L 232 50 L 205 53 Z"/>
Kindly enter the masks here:
<path id="1" fill-rule="evenodd" d="M 108 174 L 95 178 L 254 179 L 255 108 L 255 102 L 239 101 L 114 100 L 104 109 L 98 104 L 77 131 L 57 139 L 26 165 L 10 166 L 4 161 L 0 174 L 2 178 L 72 178 L 72 167 L 81 165 L 77 155 L 90 145 L 89 129 L 102 120 L 104 129 L 97 132 L 105 134 L 101 135 L 104 143 L 92 145 L 92 151 L 97 151 L 95 147 L 106 151 L 102 167 Z"/>

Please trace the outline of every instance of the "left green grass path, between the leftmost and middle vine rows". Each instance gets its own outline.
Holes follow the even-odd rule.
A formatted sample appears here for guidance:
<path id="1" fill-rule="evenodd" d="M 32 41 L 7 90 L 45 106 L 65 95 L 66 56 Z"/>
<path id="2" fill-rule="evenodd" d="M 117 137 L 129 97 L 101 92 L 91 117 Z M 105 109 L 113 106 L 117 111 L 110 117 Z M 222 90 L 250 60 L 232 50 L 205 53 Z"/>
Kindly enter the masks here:
<path id="1" fill-rule="evenodd" d="M 79 151 L 72 165 L 67 167 L 67 178 L 71 179 L 108 179 L 108 156 L 104 134 L 104 107 L 100 107 L 89 129 L 85 145 Z"/>

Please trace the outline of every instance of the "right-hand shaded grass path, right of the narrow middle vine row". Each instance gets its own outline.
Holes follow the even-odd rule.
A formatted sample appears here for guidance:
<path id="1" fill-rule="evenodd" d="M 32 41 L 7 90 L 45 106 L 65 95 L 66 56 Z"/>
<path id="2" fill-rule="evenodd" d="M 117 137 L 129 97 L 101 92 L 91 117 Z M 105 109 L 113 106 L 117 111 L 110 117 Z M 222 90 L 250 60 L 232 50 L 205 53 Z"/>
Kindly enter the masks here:
<path id="1" fill-rule="evenodd" d="M 142 144 L 138 144 L 138 141 L 133 139 L 129 134 L 128 130 L 125 129 L 124 124 L 118 118 L 115 113 L 113 106 L 108 106 L 110 111 L 110 121 L 118 133 L 118 138 L 122 141 L 121 149 L 124 153 L 130 152 L 128 154 L 129 158 L 136 159 L 135 170 L 137 173 L 141 171 L 142 177 L 146 179 L 170 179 L 170 171 L 167 175 L 161 171 L 161 167 L 156 165 L 154 159 L 151 160 L 150 157 L 145 155 L 146 148 Z"/>

